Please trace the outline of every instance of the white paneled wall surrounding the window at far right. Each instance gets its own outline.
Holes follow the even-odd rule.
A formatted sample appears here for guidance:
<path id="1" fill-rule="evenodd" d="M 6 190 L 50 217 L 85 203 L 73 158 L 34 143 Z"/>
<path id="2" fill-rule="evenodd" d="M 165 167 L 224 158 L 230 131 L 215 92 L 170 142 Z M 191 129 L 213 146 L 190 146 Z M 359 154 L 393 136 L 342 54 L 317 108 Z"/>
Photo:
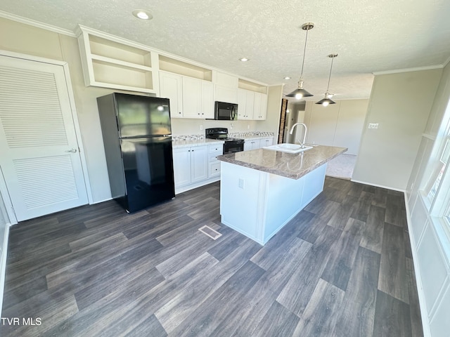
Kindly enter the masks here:
<path id="1" fill-rule="evenodd" d="M 430 216 L 420 195 L 427 182 L 427 167 L 436 159 L 442 133 L 449 124 L 450 65 L 446 65 L 432 102 L 430 117 L 420 141 L 406 187 L 409 234 L 418 278 L 421 310 L 431 336 L 448 336 L 450 321 L 450 244 L 440 222 Z M 435 146 L 437 145 L 437 146 Z"/>

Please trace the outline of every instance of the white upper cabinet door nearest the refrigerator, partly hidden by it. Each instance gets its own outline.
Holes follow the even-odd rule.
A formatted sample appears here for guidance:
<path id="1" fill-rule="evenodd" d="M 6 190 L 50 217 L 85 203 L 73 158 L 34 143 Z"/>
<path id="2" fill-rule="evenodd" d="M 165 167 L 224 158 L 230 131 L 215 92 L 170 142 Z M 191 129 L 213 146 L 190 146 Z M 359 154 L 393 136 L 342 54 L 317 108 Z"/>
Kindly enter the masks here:
<path id="1" fill-rule="evenodd" d="M 170 117 L 183 117 L 180 75 L 160 72 L 160 97 L 169 98 Z"/>

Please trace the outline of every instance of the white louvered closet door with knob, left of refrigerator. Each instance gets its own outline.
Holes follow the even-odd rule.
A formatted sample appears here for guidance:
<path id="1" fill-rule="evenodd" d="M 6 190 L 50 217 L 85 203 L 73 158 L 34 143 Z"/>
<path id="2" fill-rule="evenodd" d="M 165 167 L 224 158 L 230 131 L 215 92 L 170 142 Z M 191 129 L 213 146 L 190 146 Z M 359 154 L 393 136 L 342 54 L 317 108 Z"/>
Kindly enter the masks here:
<path id="1" fill-rule="evenodd" d="M 0 55 L 0 153 L 18 221 L 87 204 L 62 66 Z"/>

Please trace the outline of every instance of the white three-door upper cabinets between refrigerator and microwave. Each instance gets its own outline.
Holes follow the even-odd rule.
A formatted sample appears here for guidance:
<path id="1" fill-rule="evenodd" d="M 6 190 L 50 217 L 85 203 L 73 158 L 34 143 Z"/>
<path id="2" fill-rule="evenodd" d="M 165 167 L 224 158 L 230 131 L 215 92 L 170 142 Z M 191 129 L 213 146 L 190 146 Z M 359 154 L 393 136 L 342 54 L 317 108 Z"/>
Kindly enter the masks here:
<path id="1" fill-rule="evenodd" d="M 169 98 L 171 117 L 214 118 L 210 81 L 160 71 L 160 96 Z"/>

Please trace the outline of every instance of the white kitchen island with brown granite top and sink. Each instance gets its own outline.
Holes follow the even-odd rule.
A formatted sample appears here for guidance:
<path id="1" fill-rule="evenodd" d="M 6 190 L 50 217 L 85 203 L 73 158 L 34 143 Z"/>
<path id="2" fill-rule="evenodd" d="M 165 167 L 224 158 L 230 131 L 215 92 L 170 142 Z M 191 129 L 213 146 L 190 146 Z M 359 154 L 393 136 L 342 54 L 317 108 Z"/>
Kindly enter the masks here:
<path id="1" fill-rule="evenodd" d="M 217 157 L 221 223 L 266 244 L 322 192 L 326 163 L 345 151 L 317 145 L 297 154 L 258 149 Z"/>

